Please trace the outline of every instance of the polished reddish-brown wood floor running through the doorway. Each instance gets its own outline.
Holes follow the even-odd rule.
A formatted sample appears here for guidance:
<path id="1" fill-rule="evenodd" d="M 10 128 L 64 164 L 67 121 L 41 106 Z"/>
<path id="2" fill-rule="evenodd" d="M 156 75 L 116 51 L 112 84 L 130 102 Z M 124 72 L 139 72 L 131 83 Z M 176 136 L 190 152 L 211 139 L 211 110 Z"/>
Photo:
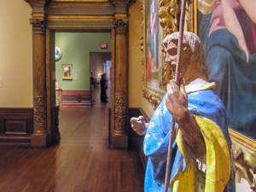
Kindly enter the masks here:
<path id="1" fill-rule="evenodd" d="M 0 192 L 143 192 L 137 151 L 108 146 L 109 102 L 98 94 L 93 107 L 61 108 L 58 145 L 0 146 Z"/>

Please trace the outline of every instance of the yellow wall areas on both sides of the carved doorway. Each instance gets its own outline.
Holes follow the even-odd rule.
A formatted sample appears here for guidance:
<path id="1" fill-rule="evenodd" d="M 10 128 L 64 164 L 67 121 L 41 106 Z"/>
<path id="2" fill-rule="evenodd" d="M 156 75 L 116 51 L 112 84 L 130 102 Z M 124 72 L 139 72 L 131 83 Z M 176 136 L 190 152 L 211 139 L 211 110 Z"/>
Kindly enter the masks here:
<path id="1" fill-rule="evenodd" d="M 129 108 L 143 108 L 151 117 L 153 108 L 143 98 L 143 52 L 140 50 L 142 0 L 130 8 Z M 32 108 L 32 8 L 25 1 L 0 3 L 0 108 Z M 0 82 L 1 84 L 1 82 Z"/>

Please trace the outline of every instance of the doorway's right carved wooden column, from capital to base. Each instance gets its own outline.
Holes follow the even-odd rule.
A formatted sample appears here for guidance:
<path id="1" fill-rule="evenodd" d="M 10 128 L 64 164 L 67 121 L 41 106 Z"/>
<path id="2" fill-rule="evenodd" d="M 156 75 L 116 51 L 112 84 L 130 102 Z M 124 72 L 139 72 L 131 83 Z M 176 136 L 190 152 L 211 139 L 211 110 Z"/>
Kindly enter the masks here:
<path id="1" fill-rule="evenodd" d="M 116 148 L 128 147 L 127 135 L 127 19 L 117 18 L 115 26 L 115 66 L 112 145 Z"/>

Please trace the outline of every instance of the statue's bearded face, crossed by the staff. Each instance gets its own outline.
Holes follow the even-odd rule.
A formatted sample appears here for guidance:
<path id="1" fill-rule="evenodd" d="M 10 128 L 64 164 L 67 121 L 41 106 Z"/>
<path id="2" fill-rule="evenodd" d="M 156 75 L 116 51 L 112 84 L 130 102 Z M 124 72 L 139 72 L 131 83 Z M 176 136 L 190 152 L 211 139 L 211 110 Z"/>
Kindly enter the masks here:
<path id="1" fill-rule="evenodd" d="M 189 54 L 184 49 L 186 48 L 183 48 L 181 52 L 181 60 L 180 60 L 180 66 L 179 66 L 180 75 L 182 77 L 184 73 L 187 72 L 187 68 L 190 62 Z M 169 63 L 170 69 L 172 70 L 172 74 L 175 74 L 176 66 L 177 66 L 177 39 L 173 39 L 171 43 L 167 45 L 166 62 Z"/>

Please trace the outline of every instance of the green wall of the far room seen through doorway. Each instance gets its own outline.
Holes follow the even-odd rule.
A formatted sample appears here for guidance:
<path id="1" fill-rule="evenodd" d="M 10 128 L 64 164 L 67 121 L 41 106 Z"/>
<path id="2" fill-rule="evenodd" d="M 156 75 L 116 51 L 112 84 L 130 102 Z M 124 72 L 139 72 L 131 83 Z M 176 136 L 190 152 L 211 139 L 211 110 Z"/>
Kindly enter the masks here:
<path id="1" fill-rule="evenodd" d="M 100 44 L 107 43 L 108 49 Z M 62 57 L 55 61 L 56 81 L 62 90 L 90 90 L 90 52 L 111 52 L 110 32 L 55 32 Z M 73 65 L 73 79 L 62 80 L 62 64 Z"/>

